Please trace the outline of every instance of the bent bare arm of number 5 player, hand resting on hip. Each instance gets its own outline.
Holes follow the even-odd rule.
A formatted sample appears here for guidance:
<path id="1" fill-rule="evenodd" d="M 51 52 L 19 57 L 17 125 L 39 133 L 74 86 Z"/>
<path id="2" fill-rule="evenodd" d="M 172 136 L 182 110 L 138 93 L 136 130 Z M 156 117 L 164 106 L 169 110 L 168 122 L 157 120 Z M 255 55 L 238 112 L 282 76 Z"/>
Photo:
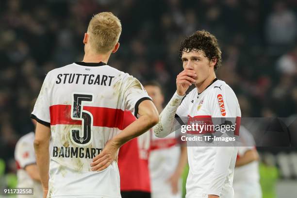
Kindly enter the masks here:
<path id="1" fill-rule="evenodd" d="M 139 104 L 138 114 L 140 117 L 108 141 L 102 152 L 93 159 L 93 163 L 91 163 L 93 171 L 101 171 L 107 168 L 116 159 L 117 150 L 123 144 L 147 132 L 159 121 L 158 111 L 150 100 L 144 100 Z"/>

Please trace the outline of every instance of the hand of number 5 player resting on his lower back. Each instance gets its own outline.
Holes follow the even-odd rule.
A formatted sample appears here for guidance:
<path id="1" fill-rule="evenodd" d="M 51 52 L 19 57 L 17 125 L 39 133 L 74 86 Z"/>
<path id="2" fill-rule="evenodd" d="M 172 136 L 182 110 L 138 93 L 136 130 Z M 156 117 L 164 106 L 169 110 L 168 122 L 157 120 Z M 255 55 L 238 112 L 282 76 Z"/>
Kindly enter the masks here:
<path id="1" fill-rule="evenodd" d="M 106 143 L 102 152 L 97 155 L 91 163 L 92 171 L 101 171 L 107 168 L 114 160 L 117 159 L 117 147 L 113 140 Z"/>

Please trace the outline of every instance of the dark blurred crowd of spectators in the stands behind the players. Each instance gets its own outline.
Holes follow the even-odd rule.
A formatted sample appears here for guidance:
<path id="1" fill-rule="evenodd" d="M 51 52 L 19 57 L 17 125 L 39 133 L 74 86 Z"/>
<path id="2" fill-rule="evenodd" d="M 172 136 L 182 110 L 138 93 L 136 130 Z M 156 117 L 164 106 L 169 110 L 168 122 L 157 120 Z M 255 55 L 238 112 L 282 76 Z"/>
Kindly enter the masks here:
<path id="1" fill-rule="evenodd" d="M 295 0 L 1 0 L 0 158 L 14 167 L 17 139 L 30 131 L 31 103 L 46 73 L 83 57 L 94 13 L 122 22 L 120 49 L 109 65 L 141 82 L 157 80 L 166 101 L 176 89 L 181 40 L 213 33 L 222 49 L 217 77 L 235 91 L 245 117 L 297 112 Z"/>

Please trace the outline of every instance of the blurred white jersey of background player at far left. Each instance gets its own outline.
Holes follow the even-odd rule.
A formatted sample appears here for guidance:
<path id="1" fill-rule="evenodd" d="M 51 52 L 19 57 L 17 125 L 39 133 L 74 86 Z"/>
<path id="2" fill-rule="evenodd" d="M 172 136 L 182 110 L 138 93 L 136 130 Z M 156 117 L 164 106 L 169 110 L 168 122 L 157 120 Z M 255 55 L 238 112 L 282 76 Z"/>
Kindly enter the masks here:
<path id="1" fill-rule="evenodd" d="M 19 198 L 42 198 L 43 190 L 40 181 L 33 180 L 25 167 L 36 164 L 33 142 L 35 133 L 29 132 L 22 136 L 16 143 L 15 160 L 17 166 L 17 187 L 33 188 L 33 196 L 20 195 Z"/>

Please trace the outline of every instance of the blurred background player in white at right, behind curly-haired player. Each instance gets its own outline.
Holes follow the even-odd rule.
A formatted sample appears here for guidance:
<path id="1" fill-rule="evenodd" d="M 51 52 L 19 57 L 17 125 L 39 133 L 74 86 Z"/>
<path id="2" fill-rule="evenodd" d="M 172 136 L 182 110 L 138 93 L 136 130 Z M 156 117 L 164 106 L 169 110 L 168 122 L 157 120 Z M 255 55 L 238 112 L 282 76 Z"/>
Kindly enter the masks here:
<path id="1" fill-rule="evenodd" d="M 234 169 L 234 198 L 262 198 L 259 154 L 252 134 L 240 126 L 240 142 Z"/>

